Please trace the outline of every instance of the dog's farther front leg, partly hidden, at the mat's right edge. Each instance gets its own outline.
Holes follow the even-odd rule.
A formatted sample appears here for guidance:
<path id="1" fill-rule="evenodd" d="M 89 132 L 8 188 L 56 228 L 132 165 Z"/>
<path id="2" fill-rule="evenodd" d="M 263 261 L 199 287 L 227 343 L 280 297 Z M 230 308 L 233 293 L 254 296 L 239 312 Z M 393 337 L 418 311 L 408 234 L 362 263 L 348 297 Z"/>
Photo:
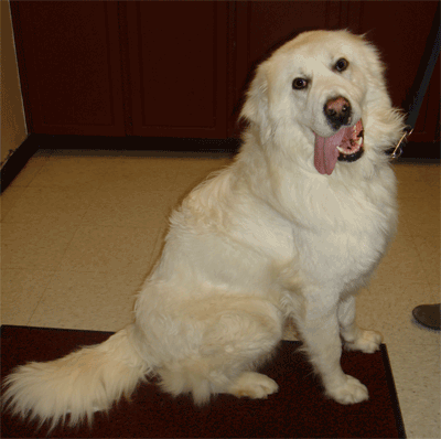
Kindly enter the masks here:
<path id="1" fill-rule="evenodd" d="M 348 351 L 372 354 L 379 349 L 383 336 L 377 331 L 367 331 L 355 322 L 355 297 L 349 296 L 338 304 L 338 322 L 342 339 Z"/>

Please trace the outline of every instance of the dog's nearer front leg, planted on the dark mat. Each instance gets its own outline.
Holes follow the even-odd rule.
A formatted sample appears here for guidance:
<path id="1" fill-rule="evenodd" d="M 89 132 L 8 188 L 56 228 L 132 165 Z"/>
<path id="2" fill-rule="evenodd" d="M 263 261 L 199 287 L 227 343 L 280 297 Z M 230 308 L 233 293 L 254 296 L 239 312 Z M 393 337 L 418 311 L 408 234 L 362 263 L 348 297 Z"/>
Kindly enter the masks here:
<path id="1" fill-rule="evenodd" d="M 311 297 L 298 326 L 303 336 L 311 363 L 322 378 L 325 393 L 340 404 L 355 404 L 368 399 L 368 392 L 358 379 L 346 375 L 340 364 L 342 342 L 337 304 L 319 304 L 320 297 Z"/>

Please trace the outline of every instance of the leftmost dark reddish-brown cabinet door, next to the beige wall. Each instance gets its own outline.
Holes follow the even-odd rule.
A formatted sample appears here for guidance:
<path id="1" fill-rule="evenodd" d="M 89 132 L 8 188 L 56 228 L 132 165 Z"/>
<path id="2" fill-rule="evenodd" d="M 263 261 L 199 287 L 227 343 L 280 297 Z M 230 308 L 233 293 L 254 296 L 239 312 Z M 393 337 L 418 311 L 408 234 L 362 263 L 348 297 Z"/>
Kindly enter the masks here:
<path id="1" fill-rule="evenodd" d="M 30 132 L 123 136 L 117 4 L 11 4 Z"/>

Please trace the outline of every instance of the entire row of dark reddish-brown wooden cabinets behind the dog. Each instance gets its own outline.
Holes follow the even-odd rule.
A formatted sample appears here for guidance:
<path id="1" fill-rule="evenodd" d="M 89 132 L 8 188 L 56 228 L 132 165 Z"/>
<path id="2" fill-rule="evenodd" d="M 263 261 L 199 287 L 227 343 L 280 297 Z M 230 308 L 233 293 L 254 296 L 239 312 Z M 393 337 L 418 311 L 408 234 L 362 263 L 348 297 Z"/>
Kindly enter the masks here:
<path id="1" fill-rule="evenodd" d="M 367 32 L 401 106 L 434 1 L 11 1 L 30 132 L 227 138 L 252 69 L 302 31 Z M 439 77 L 435 69 L 433 78 Z M 439 81 L 416 139 L 439 138 Z"/>

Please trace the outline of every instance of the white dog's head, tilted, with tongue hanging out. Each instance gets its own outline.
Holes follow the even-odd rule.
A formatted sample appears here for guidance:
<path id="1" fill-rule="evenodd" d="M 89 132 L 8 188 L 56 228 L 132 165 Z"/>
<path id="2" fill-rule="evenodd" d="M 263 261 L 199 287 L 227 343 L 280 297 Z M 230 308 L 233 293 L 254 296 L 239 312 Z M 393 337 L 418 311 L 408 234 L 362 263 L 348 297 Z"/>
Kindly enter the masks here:
<path id="1" fill-rule="evenodd" d="M 276 51 L 258 67 L 241 116 L 263 143 L 297 136 L 322 174 L 390 148 L 402 129 L 376 49 L 347 31 L 305 32 Z"/>

